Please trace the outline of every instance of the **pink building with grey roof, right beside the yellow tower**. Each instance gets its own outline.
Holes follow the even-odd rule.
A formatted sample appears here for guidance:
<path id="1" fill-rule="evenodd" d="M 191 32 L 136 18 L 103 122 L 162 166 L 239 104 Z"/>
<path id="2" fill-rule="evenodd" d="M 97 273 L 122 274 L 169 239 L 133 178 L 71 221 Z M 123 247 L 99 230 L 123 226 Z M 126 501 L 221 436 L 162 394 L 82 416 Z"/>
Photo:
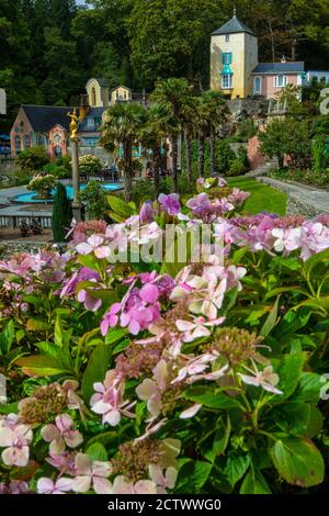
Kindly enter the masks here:
<path id="1" fill-rule="evenodd" d="M 260 63 L 251 74 L 252 97 L 273 99 L 287 85 L 302 86 L 304 61 Z"/>

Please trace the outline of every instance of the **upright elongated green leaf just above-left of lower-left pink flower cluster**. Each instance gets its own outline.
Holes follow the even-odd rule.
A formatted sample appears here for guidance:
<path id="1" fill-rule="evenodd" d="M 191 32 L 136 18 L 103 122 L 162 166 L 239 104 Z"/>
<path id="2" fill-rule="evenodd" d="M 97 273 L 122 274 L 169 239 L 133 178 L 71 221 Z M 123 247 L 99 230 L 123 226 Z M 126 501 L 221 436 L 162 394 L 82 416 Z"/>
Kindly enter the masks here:
<path id="1" fill-rule="evenodd" d="M 82 377 L 81 390 L 83 400 L 89 404 L 90 399 L 94 392 L 93 384 L 95 382 L 103 382 L 106 371 L 109 369 L 110 348 L 105 345 L 99 345 L 92 351 L 87 369 Z"/>

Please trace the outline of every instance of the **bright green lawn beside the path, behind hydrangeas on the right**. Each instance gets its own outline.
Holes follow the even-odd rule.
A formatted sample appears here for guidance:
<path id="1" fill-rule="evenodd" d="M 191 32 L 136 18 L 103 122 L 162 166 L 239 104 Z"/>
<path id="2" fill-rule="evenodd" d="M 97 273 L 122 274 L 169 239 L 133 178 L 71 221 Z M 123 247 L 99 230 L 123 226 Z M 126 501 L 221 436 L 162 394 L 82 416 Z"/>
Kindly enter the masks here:
<path id="1" fill-rule="evenodd" d="M 286 213 L 286 193 L 274 190 L 252 178 L 231 178 L 228 180 L 229 187 L 240 188 L 251 193 L 247 199 L 243 212 L 250 215 L 256 215 L 261 212 L 276 213 L 277 215 L 285 215 Z"/>

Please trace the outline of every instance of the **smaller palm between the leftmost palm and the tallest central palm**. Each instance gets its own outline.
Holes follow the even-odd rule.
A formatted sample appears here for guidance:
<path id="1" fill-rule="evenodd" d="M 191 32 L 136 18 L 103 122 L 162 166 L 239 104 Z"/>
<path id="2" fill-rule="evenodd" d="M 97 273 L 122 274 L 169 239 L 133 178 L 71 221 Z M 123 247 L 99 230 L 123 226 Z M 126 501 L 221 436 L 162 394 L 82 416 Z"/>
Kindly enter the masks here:
<path id="1" fill-rule="evenodd" d="M 145 148 L 152 150 L 156 195 L 160 193 L 160 166 L 162 142 L 171 132 L 171 113 L 167 104 L 152 103 L 148 110 L 146 124 L 139 132 L 139 141 Z"/>

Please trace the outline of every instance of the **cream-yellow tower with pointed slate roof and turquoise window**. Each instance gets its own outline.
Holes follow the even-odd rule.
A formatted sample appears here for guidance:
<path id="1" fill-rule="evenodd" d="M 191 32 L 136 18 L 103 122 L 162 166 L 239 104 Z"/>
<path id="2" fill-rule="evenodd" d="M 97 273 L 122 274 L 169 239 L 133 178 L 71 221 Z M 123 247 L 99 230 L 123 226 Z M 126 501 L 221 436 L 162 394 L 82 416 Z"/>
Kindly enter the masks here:
<path id="1" fill-rule="evenodd" d="M 252 92 L 251 72 L 258 65 L 258 40 L 236 15 L 212 33 L 211 89 L 230 98 Z"/>

